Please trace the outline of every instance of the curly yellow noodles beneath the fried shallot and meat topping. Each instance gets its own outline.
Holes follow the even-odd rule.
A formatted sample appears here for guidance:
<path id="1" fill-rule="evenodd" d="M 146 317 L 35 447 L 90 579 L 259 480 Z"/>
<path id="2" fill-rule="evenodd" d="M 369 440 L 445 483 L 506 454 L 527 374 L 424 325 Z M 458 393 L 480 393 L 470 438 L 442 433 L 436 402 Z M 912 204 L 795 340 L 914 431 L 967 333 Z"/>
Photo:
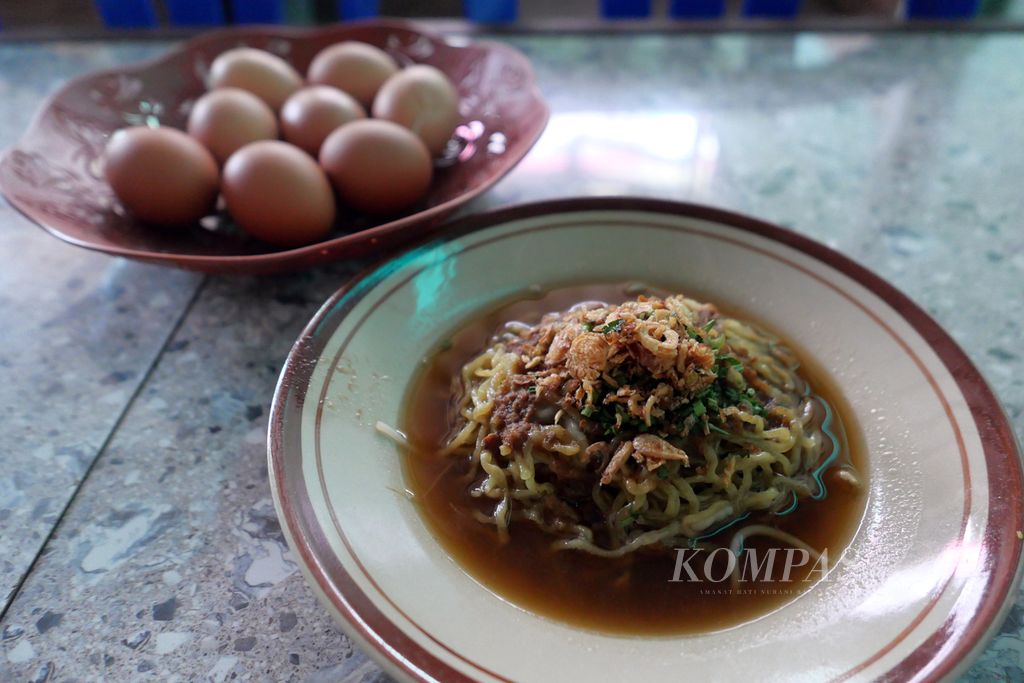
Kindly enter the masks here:
<path id="1" fill-rule="evenodd" d="M 683 297 L 670 297 L 664 304 L 664 308 L 652 308 L 649 303 L 636 303 L 635 310 L 647 315 L 637 318 L 637 334 L 650 357 L 673 367 L 681 362 L 677 353 L 682 357 L 687 348 L 683 344 L 692 343 L 685 331 L 701 328 L 708 321 L 708 309 Z M 578 411 L 583 403 L 552 410 L 547 414 L 550 423 L 531 424 L 521 446 L 503 441 L 496 454 L 484 446 L 485 437 L 500 431 L 496 408 L 511 391 L 513 378 L 542 369 L 543 358 L 510 352 L 499 341 L 467 362 L 460 374 L 463 391 L 457 407 L 464 424 L 459 425 L 445 453 L 467 457 L 478 468 L 478 483 L 472 493 L 496 501 L 493 514 L 485 517 L 499 533 L 505 538 L 517 523 L 532 523 L 557 537 L 559 548 L 618 557 L 650 545 L 681 546 L 716 532 L 744 513 L 781 511 L 792 505 L 795 496 L 799 500 L 816 493 L 818 484 L 811 472 L 827 455 L 820 418 L 814 410 L 821 399 L 810 393 L 809 385 L 798 374 L 796 356 L 778 339 L 738 319 L 718 316 L 714 325 L 712 335 L 724 338 L 720 341 L 742 362 L 741 369 L 723 368 L 720 377 L 743 386 L 740 370 L 756 374 L 760 400 L 770 412 L 754 414 L 737 403 L 740 408 L 723 413 L 727 433 L 706 430 L 696 450 L 689 451 L 688 461 L 648 463 L 649 469 L 644 469 L 643 454 L 637 452 L 609 482 L 588 481 L 587 485 L 592 485 L 588 500 L 603 516 L 597 527 L 571 520 L 552 524 L 545 508 L 548 497 L 559 495 L 559 482 L 551 479 L 550 473 L 579 468 L 579 463 L 586 462 L 581 459 L 592 457 L 588 451 L 591 443 L 580 426 Z M 579 383 L 577 397 L 587 396 L 594 404 L 594 382 L 603 382 L 612 392 L 618 389 L 608 373 L 600 377 Z M 628 387 L 618 390 L 628 391 Z M 671 390 L 659 385 L 645 398 L 621 393 L 613 400 L 650 428 L 654 418 L 665 417 L 658 400 Z M 584 415 L 588 413 L 584 411 Z M 766 415 L 771 416 L 770 421 Z M 615 416 L 615 428 L 622 429 L 622 415 Z M 607 462 L 622 443 L 612 439 L 606 455 L 593 457 Z M 856 473 L 851 473 L 850 480 L 859 481 Z M 742 532 L 769 536 L 765 528 L 770 527 L 749 526 Z M 602 537 L 600 543 L 595 530 Z M 788 537 L 776 540 L 797 545 Z"/>

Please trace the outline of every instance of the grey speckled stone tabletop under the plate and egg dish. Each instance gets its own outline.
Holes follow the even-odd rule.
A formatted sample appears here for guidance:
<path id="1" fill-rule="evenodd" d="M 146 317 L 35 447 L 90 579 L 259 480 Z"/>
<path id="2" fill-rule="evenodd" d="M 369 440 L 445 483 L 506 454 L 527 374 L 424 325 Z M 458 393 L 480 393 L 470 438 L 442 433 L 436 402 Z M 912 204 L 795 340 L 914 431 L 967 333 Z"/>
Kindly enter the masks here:
<path id="1" fill-rule="evenodd" d="M 469 211 L 633 194 L 787 225 L 922 304 L 1024 435 L 1024 38 L 504 39 L 553 116 Z M 0 145 L 65 79 L 167 47 L 0 46 Z M 385 678 L 303 584 L 264 450 L 289 347 L 359 265 L 205 278 L 0 201 L 0 680 Z M 1024 680 L 1022 605 L 966 680 Z"/>

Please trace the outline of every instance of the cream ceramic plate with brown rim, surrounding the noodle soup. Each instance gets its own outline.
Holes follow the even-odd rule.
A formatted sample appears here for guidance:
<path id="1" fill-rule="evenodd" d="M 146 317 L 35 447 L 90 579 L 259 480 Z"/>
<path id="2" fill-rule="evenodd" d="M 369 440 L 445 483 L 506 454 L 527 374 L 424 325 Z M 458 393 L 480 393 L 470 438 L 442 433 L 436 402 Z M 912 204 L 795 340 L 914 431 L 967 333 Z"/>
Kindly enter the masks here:
<path id="1" fill-rule="evenodd" d="M 468 230 L 468 231 L 467 231 Z M 656 282 L 784 331 L 849 401 L 866 508 L 843 561 L 740 627 L 602 635 L 539 616 L 470 578 L 404 488 L 396 424 L 425 349 L 530 286 Z M 852 419 L 851 419 L 852 418 Z M 271 417 L 283 527 L 343 628 L 411 679 L 935 679 L 1008 606 L 1021 472 L 1009 427 L 963 352 L 905 297 L 781 228 L 702 207 L 578 201 L 473 218 L 332 299 L 297 343 Z"/>

